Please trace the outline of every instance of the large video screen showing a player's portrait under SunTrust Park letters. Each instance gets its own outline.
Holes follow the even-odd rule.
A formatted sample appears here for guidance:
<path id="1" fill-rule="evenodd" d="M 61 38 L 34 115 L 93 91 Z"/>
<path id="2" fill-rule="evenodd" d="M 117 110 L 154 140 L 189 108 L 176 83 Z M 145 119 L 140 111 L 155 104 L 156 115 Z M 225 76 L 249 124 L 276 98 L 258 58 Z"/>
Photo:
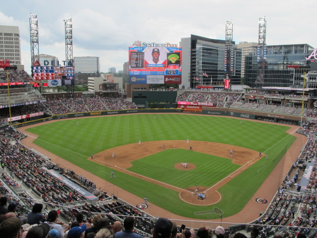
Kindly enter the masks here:
<path id="1" fill-rule="evenodd" d="M 129 81 L 138 84 L 180 84 L 182 48 L 129 47 Z"/>

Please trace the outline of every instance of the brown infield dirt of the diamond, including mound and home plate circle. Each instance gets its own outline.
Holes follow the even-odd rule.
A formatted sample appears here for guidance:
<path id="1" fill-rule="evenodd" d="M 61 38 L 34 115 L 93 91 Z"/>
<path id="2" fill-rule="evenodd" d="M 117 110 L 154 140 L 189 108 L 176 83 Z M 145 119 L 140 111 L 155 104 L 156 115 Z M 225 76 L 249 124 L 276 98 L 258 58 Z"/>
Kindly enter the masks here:
<path id="1" fill-rule="evenodd" d="M 163 148 L 162 145 L 165 145 Z M 134 160 L 138 160 L 140 158 L 150 156 L 156 153 L 161 152 L 162 150 L 166 149 L 186 149 L 189 150 L 189 148 L 192 147 L 193 151 L 201 152 L 205 154 L 210 154 L 214 156 L 219 156 L 223 158 L 232 159 L 232 162 L 235 164 L 242 165 L 242 167 L 232 173 L 227 178 L 221 180 L 211 188 L 209 187 L 197 187 L 198 192 L 204 192 L 206 195 L 205 199 L 198 199 L 198 197 L 195 195 L 194 191 L 196 187 L 188 187 L 185 189 L 177 188 L 171 185 L 168 185 L 166 183 L 160 182 L 158 180 L 150 179 L 148 177 L 144 177 L 142 175 L 134 174 L 130 171 L 127 171 L 126 169 L 132 167 L 131 162 Z M 229 158 L 229 150 L 233 151 L 232 158 Z M 115 153 L 115 157 L 112 157 L 112 153 Z M 262 157 L 265 156 L 265 154 L 262 154 Z M 243 147 L 233 146 L 233 145 L 227 145 L 227 144 L 220 144 L 220 143 L 214 143 L 214 142 L 208 142 L 208 141 L 194 141 L 191 140 L 189 143 L 187 143 L 186 140 L 172 140 L 172 141 L 148 141 L 148 142 L 142 142 L 141 145 L 139 145 L 139 142 L 128 144 L 128 145 L 122 145 L 118 147 L 114 147 L 105 151 L 102 151 L 96 155 L 94 155 L 93 159 L 90 157 L 87 158 L 88 160 L 91 160 L 93 162 L 106 165 L 107 167 L 113 169 L 113 170 L 119 170 L 120 172 L 129 174 L 131 176 L 138 177 L 140 179 L 144 179 L 156 184 L 159 184 L 160 186 L 167 187 L 169 189 L 178 191 L 180 193 L 180 199 L 183 201 L 195 204 L 195 205 L 211 205 L 215 204 L 220 201 L 221 195 L 219 192 L 217 192 L 217 189 L 223 186 L 225 183 L 239 175 L 240 170 L 247 169 L 249 166 L 251 166 L 253 163 L 261 159 L 262 157 L 259 157 L 259 152 L 250 150 Z M 249 163 L 250 162 L 250 163 Z M 184 161 L 186 163 L 186 161 Z M 189 164 L 188 168 L 185 168 L 185 166 L 182 163 L 174 165 L 175 168 L 179 170 L 191 170 L 196 167 L 194 164 Z"/>

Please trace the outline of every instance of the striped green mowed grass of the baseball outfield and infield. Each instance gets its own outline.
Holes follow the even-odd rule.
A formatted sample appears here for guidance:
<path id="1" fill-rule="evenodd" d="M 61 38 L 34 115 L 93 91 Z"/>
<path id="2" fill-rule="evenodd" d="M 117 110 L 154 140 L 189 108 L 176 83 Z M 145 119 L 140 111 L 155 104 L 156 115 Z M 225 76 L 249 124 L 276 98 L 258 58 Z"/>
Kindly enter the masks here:
<path id="1" fill-rule="evenodd" d="M 76 125 L 77 121 L 80 122 L 79 125 Z M 159 114 L 154 119 L 153 115 L 144 114 L 55 121 L 29 128 L 27 131 L 39 135 L 35 140 L 37 145 L 107 180 L 110 180 L 110 176 L 107 175 L 111 169 L 88 161 L 87 158 L 90 154 L 97 154 L 120 145 L 138 143 L 139 139 L 144 142 L 189 138 L 190 140 L 232 144 L 268 154 L 269 160 L 264 158 L 258 161 L 221 187 L 218 190 L 222 195 L 221 201 L 211 206 L 190 205 L 181 201 L 176 191 L 124 173 L 116 172 L 116 179 L 111 180 L 111 183 L 140 198 L 147 196 L 150 202 L 172 213 L 189 218 L 216 219 L 219 218 L 219 215 L 214 213 L 195 215 L 195 212 L 212 210 L 215 206 L 224 212 L 223 217 L 239 212 L 294 142 L 295 137 L 288 135 L 285 132 L 287 129 L 289 129 L 288 126 L 248 120 L 243 120 L 240 124 L 240 119 L 233 118 Z M 182 149 L 166 150 L 134 161 L 130 170 L 135 173 L 139 171 L 143 174 L 151 174 L 151 178 L 178 187 L 188 187 L 210 186 L 208 184 L 215 183 L 217 179 L 225 177 L 230 174 L 230 171 L 239 167 L 232 163 L 230 165 L 230 162 L 226 161 L 223 162 L 227 164 L 221 167 L 219 164 L 216 167 L 213 164 L 209 168 L 197 167 L 198 173 L 210 177 L 208 181 L 201 181 L 199 176 L 192 176 L 193 179 L 187 179 L 183 174 L 173 176 L 168 171 L 174 173 L 171 168 L 171 163 L 174 164 L 174 162 L 168 161 L 166 158 L 175 157 L 174 153 L 183 154 L 184 152 Z M 218 159 L 203 153 L 194 153 L 197 153 L 195 160 L 198 160 L 199 163 Z M 183 156 L 186 155 L 183 154 Z M 177 158 L 175 159 L 178 161 Z M 161 163 L 157 164 L 158 162 Z M 188 161 L 188 163 L 192 162 Z M 196 165 L 196 161 L 193 164 Z M 159 167 L 164 167 L 164 169 L 159 169 Z M 153 168 L 152 173 L 149 172 L 149 168 Z M 203 184 L 205 182 L 206 185 Z M 140 201 L 142 200 L 140 199 Z"/>

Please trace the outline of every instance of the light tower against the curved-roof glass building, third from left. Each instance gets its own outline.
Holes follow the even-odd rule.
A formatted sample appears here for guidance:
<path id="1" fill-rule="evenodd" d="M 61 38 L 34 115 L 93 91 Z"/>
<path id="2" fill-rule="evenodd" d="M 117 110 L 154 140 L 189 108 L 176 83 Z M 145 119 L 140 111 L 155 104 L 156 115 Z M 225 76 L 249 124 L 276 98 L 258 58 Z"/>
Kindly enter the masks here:
<path id="1" fill-rule="evenodd" d="M 226 23 L 226 42 L 224 49 L 224 78 L 229 77 L 231 79 L 232 71 L 233 71 L 233 47 L 232 47 L 232 39 L 233 39 L 233 23 L 231 21 L 227 21 Z M 231 83 L 230 83 L 231 88 Z"/>

